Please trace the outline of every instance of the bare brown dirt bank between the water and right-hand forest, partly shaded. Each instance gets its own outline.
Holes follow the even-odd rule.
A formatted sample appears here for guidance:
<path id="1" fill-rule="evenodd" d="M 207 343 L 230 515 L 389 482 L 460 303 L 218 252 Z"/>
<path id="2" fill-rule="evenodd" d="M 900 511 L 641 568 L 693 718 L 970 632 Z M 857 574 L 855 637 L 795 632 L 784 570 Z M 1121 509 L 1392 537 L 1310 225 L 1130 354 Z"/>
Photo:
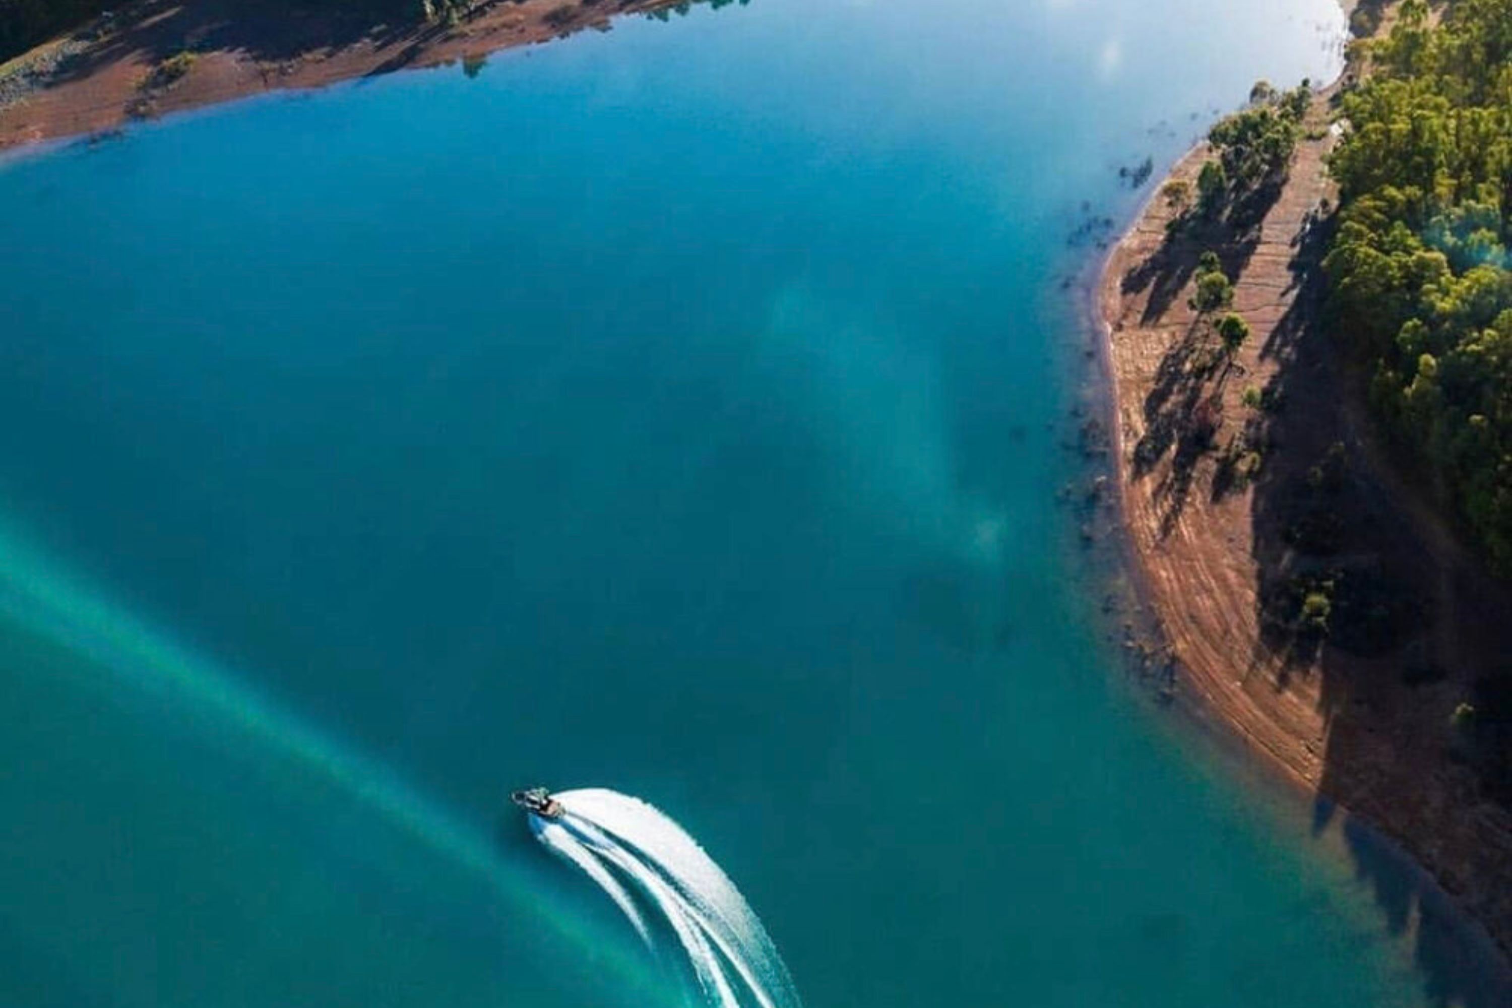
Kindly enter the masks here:
<path id="1" fill-rule="evenodd" d="M 1506 739 L 1456 709 L 1512 673 L 1512 591 L 1396 468 L 1362 369 L 1321 322 L 1329 98 L 1284 181 L 1170 237 L 1178 210 L 1160 190 L 1110 255 L 1101 313 L 1128 533 L 1176 695 L 1315 793 L 1320 830 L 1338 802 L 1399 840 L 1507 951 Z M 1194 192 L 1208 156 L 1196 148 L 1170 178 Z M 1253 326 L 1232 361 L 1188 305 L 1205 249 Z M 1309 594 L 1331 600 L 1321 623 Z M 1359 869 L 1409 928 L 1420 893 Z M 1452 970 L 1435 981 L 1456 993 Z"/>

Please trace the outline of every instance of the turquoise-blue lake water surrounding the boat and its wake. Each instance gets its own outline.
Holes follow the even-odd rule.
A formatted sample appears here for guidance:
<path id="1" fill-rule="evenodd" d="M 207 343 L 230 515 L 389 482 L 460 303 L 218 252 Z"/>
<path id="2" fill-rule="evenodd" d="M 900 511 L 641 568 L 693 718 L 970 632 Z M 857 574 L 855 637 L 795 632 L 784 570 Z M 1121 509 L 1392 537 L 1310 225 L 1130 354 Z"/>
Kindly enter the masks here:
<path id="1" fill-rule="evenodd" d="M 1129 695 L 1055 500 L 1067 236 L 1340 24 L 756 0 L 6 166 L 0 1003 L 676 1002 L 538 781 L 812 1008 L 1494 1003 Z"/>

